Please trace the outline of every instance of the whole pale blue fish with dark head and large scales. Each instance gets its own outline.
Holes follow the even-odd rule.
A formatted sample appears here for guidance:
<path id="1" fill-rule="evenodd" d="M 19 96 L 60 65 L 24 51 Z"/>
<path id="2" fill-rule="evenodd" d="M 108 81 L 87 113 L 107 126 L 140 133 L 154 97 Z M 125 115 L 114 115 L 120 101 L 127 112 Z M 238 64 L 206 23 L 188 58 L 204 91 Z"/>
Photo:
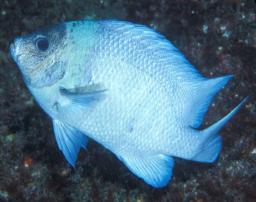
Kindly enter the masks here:
<path id="1" fill-rule="evenodd" d="M 199 130 L 233 75 L 204 78 L 163 35 L 131 22 L 47 26 L 15 38 L 10 53 L 70 165 L 90 138 L 156 188 L 172 178 L 173 157 L 214 162 L 218 131 L 247 99 Z"/>

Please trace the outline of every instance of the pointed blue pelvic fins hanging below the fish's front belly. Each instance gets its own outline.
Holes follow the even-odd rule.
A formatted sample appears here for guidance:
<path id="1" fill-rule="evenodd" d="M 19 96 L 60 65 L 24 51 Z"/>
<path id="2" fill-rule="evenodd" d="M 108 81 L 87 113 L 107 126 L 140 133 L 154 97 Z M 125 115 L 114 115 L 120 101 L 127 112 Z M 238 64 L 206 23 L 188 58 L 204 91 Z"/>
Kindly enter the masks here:
<path id="1" fill-rule="evenodd" d="M 52 122 L 58 147 L 67 161 L 75 168 L 77 154 L 81 146 L 86 149 L 88 139 L 86 135 L 66 123 L 57 119 L 52 119 Z"/>

